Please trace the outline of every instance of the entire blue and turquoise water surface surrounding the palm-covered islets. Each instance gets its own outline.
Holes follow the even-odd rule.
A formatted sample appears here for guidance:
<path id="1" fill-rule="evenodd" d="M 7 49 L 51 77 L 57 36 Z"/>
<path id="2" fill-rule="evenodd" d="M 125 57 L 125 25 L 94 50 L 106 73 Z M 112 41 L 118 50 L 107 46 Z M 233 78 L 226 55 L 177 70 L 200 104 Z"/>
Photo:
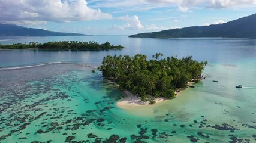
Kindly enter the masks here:
<path id="1" fill-rule="evenodd" d="M 256 39 L 0 37 L 0 44 L 47 41 L 126 49 L 0 51 L 0 142 L 256 142 Z M 106 55 L 156 52 L 207 60 L 206 79 L 173 100 L 124 110 L 116 106 L 122 91 L 91 73 Z"/>

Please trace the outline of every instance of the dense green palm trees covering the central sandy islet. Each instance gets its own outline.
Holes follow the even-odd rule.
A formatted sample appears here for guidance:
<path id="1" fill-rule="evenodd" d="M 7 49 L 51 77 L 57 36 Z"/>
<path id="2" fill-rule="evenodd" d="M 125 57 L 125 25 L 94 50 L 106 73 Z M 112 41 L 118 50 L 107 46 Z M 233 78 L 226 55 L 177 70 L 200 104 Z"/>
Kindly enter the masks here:
<path id="1" fill-rule="evenodd" d="M 200 78 L 207 64 L 207 61 L 200 63 L 192 57 L 177 59 L 162 56 L 158 53 L 153 55 L 153 60 L 147 61 L 146 55 L 141 54 L 134 57 L 108 55 L 98 69 L 106 79 L 145 100 L 147 97 L 176 97 L 174 90 L 186 88 L 190 80 Z"/>

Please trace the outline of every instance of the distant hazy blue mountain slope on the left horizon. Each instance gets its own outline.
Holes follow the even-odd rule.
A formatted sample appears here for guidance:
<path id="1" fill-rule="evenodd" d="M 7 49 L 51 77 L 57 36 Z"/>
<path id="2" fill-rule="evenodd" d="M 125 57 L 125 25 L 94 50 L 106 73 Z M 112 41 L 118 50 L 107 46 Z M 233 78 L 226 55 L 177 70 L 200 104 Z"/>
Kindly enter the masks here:
<path id="1" fill-rule="evenodd" d="M 62 33 L 43 29 L 32 29 L 23 26 L 0 23 L 0 36 L 85 36 L 80 33 Z"/>

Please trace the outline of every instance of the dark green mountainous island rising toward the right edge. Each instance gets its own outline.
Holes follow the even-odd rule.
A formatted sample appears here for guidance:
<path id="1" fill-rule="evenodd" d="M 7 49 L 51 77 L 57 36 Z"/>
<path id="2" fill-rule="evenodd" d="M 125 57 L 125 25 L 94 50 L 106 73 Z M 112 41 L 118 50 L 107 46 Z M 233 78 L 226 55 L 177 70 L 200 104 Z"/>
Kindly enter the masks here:
<path id="1" fill-rule="evenodd" d="M 256 14 L 228 23 L 210 26 L 192 26 L 160 32 L 140 33 L 131 38 L 256 38 Z"/>

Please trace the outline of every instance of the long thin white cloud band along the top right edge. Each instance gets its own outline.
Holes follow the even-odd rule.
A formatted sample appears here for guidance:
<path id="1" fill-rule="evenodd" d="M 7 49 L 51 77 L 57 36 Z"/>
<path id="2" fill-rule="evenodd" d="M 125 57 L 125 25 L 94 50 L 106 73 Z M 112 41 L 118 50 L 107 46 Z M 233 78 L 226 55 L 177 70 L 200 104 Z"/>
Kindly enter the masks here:
<path id="1" fill-rule="evenodd" d="M 105 0 L 94 1 L 93 7 L 122 8 L 122 10 L 150 10 L 161 7 L 177 7 L 177 10 L 188 12 L 191 8 L 230 8 L 251 5 L 256 0 Z"/>

